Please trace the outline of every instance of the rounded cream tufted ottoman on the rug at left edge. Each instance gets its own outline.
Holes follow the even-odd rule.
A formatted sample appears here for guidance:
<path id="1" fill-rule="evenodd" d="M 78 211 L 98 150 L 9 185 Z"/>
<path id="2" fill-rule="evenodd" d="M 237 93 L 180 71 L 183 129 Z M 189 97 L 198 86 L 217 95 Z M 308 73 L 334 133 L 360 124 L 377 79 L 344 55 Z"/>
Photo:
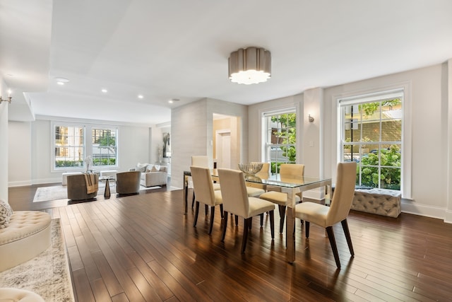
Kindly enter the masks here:
<path id="1" fill-rule="evenodd" d="M 52 243 L 50 215 L 15 211 L 9 226 L 0 228 L 0 272 L 39 255 Z"/>

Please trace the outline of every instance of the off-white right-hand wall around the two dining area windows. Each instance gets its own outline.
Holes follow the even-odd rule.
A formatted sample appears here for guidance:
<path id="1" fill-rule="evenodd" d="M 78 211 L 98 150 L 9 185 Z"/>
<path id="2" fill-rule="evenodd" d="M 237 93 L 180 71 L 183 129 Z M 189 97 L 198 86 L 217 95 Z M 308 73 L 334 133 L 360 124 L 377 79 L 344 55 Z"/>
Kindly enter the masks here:
<path id="1" fill-rule="evenodd" d="M 389 86 L 407 85 L 408 83 L 410 91 L 407 91 L 408 98 L 405 98 L 405 102 L 409 102 L 407 105 L 410 112 L 405 114 L 410 115 L 412 120 L 410 129 L 412 144 L 411 146 L 404 145 L 404 148 L 412 150 L 412 200 L 403 199 L 402 209 L 413 214 L 444 219 L 446 212 L 451 212 L 451 209 L 448 208 L 452 207 L 447 199 L 449 196 L 447 189 L 448 175 L 452 174 L 449 172 L 451 163 L 448 163 L 448 154 L 451 150 L 448 149 L 448 136 L 450 134 L 448 134 L 447 129 L 448 120 L 452 117 L 448 115 L 447 108 L 448 103 L 452 103 L 452 100 L 451 96 L 448 96 L 448 82 L 444 79 L 447 80 L 448 72 L 444 72 L 444 69 L 444 64 L 438 64 L 399 74 L 325 88 L 322 89 L 322 92 L 315 91 L 316 94 L 323 95 L 323 102 L 317 104 L 318 108 L 312 108 L 313 105 L 316 106 L 315 102 L 308 105 L 304 101 L 307 95 L 304 95 L 304 98 L 295 99 L 294 96 L 251 105 L 249 106 L 249 144 L 250 146 L 261 145 L 261 112 L 299 104 L 300 108 L 305 111 L 304 122 L 299 124 L 297 121 L 297 124 L 303 127 L 303 129 L 298 129 L 299 133 L 303 133 L 305 139 L 306 137 L 309 137 L 309 140 L 319 139 L 319 141 L 313 141 L 313 144 L 314 146 L 322 146 L 322 149 L 319 150 L 320 156 L 319 154 L 307 156 L 303 158 L 303 161 L 304 163 L 323 161 L 323 168 L 320 168 L 321 173 L 333 177 L 334 182 L 337 160 L 335 103 L 337 96 L 383 90 Z M 308 108 L 309 106 L 311 108 Z M 305 122 L 309 114 L 308 110 L 318 110 L 319 112 L 316 113 L 316 115 L 319 114 L 319 117 L 314 116 L 316 121 L 311 129 L 314 135 L 306 128 L 311 127 Z M 301 113 L 297 112 L 297 114 Z M 318 122 L 321 123 L 318 127 L 322 129 L 320 135 L 317 134 L 319 132 L 316 127 Z M 302 144 L 301 152 L 309 155 L 310 152 L 306 151 L 308 148 L 306 141 L 304 143 L 299 142 L 299 144 Z M 250 149 L 249 151 L 249 158 L 252 161 L 261 159 L 261 153 L 256 150 Z"/>

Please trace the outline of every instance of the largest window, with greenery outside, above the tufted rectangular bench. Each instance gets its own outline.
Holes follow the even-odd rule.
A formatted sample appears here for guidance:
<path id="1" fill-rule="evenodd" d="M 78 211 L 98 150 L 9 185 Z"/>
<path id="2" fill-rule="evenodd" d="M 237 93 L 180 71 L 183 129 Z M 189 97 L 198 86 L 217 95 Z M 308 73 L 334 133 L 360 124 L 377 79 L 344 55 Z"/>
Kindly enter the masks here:
<path id="1" fill-rule="evenodd" d="M 341 161 L 357 162 L 356 184 L 401 190 L 403 90 L 339 100 Z"/>

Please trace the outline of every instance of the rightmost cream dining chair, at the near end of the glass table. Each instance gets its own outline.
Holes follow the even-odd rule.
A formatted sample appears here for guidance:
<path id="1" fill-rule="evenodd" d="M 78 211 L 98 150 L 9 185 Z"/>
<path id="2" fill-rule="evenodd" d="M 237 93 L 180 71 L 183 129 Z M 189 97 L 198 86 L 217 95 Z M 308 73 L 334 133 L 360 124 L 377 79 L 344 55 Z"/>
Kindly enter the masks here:
<path id="1" fill-rule="evenodd" d="M 355 196 L 355 182 L 356 162 L 338 163 L 337 180 L 331 205 L 328 207 L 323 204 L 316 204 L 315 202 L 302 202 L 295 206 L 295 217 L 305 221 L 306 238 L 309 238 L 309 223 L 315 223 L 318 226 L 326 228 L 338 269 L 340 269 L 340 260 L 333 233 L 333 226 L 336 223 L 342 223 L 350 254 L 352 256 L 355 255 L 347 223 L 347 216 L 350 212 L 350 207 L 352 207 L 353 197 Z"/>

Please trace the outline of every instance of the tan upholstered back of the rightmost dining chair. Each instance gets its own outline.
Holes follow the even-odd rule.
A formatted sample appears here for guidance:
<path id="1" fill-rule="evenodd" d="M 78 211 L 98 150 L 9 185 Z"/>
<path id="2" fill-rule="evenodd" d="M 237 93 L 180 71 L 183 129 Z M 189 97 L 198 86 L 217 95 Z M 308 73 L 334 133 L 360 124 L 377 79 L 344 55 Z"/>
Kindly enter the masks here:
<path id="1" fill-rule="evenodd" d="M 356 163 L 338 163 L 337 180 L 333 199 L 326 216 L 326 226 L 343 221 L 347 218 L 355 196 Z"/>

